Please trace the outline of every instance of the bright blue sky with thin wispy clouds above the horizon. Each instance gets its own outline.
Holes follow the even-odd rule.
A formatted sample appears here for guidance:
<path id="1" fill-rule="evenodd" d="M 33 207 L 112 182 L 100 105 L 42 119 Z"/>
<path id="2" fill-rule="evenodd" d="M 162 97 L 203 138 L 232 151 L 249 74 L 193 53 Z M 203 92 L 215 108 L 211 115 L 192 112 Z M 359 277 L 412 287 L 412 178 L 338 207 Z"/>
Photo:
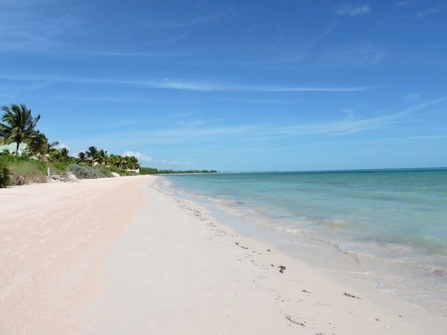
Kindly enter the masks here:
<path id="1" fill-rule="evenodd" d="M 446 1 L 0 0 L 0 104 L 144 166 L 447 166 Z"/>

